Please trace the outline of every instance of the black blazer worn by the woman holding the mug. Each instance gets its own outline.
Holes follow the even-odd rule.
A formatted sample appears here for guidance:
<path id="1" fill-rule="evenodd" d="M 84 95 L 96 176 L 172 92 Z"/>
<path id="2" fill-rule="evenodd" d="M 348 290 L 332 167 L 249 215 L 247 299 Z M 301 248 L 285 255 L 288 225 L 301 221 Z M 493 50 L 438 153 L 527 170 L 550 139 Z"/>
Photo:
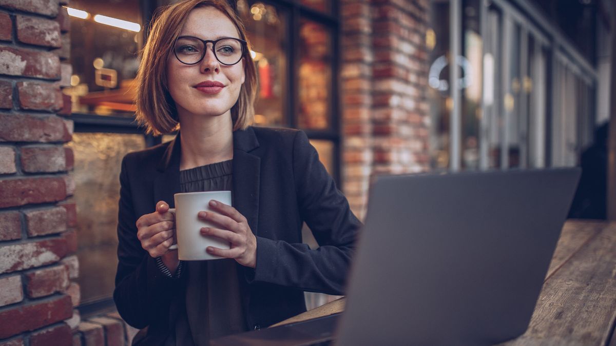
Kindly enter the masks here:
<path id="1" fill-rule="evenodd" d="M 179 135 L 122 161 L 113 299 L 128 324 L 149 326 L 148 344 L 162 342 L 174 326 L 186 275 L 173 279 L 160 272 L 137 239 L 136 221 L 158 201 L 174 206 L 179 166 Z M 256 268 L 237 264 L 248 329 L 305 312 L 303 291 L 344 294 L 361 223 L 304 132 L 264 127 L 233 132 L 233 206 L 257 239 Z M 318 249 L 302 244 L 303 222 Z"/>

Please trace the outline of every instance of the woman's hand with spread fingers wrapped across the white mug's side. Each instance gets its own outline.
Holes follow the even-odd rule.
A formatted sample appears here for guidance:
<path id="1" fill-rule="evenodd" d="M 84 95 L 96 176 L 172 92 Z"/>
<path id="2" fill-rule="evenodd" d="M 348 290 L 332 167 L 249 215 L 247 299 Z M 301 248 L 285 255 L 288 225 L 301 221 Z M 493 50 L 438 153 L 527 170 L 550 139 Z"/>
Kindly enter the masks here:
<path id="1" fill-rule="evenodd" d="M 199 219 L 218 225 L 220 228 L 203 227 L 201 235 L 215 236 L 231 243 L 230 249 L 208 246 L 208 254 L 235 259 L 239 264 L 254 268 L 257 265 L 257 238 L 248 226 L 248 220 L 234 207 L 219 201 L 210 201 L 209 207 L 216 212 L 201 211 Z"/>

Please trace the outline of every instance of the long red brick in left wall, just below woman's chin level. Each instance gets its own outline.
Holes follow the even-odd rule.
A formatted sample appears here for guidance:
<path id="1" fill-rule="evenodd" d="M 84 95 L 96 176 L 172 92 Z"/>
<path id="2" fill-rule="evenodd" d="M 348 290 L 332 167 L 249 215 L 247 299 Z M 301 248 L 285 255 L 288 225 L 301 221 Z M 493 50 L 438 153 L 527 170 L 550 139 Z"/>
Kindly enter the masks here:
<path id="1" fill-rule="evenodd" d="M 67 135 L 67 124 L 55 115 L 0 113 L 0 142 L 59 142 Z"/>

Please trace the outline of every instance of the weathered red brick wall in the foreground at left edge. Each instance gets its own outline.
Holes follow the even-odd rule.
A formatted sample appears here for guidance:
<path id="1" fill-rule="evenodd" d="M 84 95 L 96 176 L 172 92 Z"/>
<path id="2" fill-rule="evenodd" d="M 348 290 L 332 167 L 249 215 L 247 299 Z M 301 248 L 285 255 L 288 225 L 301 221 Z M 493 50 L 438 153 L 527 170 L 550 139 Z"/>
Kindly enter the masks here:
<path id="1" fill-rule="evenodd" d="M 58 0 L 0 0 L 0 345 L 73 343 L 68 30 Z"/>

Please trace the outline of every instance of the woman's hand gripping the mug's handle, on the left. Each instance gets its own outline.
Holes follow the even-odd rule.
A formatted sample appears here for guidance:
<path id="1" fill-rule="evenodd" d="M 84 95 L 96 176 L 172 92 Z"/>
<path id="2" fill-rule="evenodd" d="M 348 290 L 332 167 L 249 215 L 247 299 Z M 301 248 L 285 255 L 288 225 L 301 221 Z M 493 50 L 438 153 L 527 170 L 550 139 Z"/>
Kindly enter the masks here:
<path id="1" fill-rule="evenodd" d="M 156 211 L 140 217 L 136 225 L 141 247 L 154 258 L 160 256 L 169 271 L 175 273 L 180 260 L 177 250 L 169 250 L 176 243 L 176 216 L 169 212 L 169 204 L 156 203 Z"/>

